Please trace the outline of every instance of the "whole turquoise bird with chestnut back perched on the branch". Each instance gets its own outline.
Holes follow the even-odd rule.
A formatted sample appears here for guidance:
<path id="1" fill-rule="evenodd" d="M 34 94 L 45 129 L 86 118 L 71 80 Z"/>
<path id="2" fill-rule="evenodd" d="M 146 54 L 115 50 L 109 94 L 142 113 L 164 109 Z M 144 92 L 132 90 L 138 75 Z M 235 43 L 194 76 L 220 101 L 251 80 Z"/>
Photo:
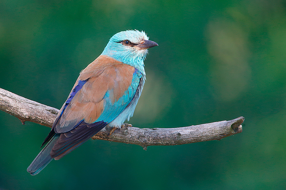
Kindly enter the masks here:
<path id="1" fill-rule="evenodd" d="M 41 147 L 27 168 L 37 175 L 106 128 L 121 128 L 133 116 L 146 73 L 148 49 L 158 46 L 144 31 L 114 34 L 103 52 L 83 69 Z"/>

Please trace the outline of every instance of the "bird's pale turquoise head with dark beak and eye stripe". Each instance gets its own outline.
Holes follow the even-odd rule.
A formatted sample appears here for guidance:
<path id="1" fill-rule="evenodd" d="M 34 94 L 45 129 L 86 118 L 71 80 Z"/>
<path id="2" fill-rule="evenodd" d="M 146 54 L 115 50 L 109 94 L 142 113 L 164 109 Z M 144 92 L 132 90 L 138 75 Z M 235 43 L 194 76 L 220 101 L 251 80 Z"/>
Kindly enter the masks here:
<path id="1" fill-rule="evenodd" d="M 104 48 L 101 55 L 107 55 L 135 68 L 144 67 L 144 59 L 148 48 L 158 46 L 150 41 L 145 32 L 126 30 L 114 34 Z"/>

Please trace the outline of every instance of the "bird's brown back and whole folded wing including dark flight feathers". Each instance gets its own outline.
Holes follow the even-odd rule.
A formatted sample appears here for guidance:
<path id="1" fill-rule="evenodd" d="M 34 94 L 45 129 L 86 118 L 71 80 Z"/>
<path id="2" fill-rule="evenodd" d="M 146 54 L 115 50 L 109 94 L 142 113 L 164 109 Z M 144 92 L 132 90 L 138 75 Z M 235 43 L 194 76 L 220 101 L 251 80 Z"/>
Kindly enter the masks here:
<path id="1" fill-rule="evenodd" d="M 43 143 L 60 134 L 52 158 L 61 158 L 114 120 L 134 98 L 141 77 L 134 67 L 107 56 L 88 65 Z"/>

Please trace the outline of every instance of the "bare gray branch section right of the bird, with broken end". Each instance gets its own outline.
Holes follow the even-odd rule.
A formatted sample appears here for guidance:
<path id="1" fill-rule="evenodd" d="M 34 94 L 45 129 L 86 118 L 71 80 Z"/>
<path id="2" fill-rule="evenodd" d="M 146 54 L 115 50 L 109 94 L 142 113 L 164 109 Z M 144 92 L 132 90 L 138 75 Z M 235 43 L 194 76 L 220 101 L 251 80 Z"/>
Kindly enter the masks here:
<path id="1" fill-rule="evenodd" d="M 114 142 L 124 142 L 137 144 L 147 149 L 151 145 L 179 145 L 201 141 L 220 140 L 242 132 L 244 117 L 239 117 L 230 121 L 219 121 L 189 127 L 177 128 L 144 128 L 122 125 L 121 129 L 116 129 L 110 137 L 108 132 L 97 133 L 92 139 L 102 139 Z M 129 124 L 130 125 L 130 124 Z"/>

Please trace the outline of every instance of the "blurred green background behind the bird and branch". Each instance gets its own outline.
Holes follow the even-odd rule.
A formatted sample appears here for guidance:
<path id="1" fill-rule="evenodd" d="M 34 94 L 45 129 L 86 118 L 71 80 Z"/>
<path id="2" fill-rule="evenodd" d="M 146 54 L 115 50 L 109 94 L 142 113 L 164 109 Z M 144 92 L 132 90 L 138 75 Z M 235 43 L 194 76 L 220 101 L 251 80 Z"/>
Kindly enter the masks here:
<path id="1" fill-rule="evenodd" d="M 0 112 L 0 189 L 285 189 L 286 3 L 0 2 L 0 87 L 60 108 L 79 72 L 123 30 L 159 46 L 130 122 L 182 127 L 245 117 L 221 141 L 149 146 L 89 140 L 39 175 L 50 128 Z"/>

